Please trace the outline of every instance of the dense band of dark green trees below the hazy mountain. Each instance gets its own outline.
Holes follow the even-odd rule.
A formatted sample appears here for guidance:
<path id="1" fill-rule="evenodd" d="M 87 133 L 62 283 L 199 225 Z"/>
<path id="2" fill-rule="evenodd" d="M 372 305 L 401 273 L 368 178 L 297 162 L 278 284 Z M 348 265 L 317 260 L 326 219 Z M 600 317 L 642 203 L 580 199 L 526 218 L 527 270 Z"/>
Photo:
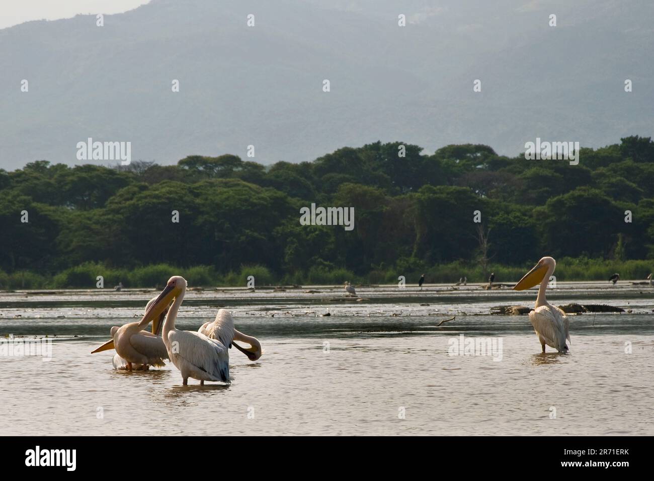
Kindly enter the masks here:
<path id="1" fill-rule="evenodd" d="M 354 207 L 354 229 L 301 225 L 300 209 L 312 203 Z M 400 142 L 271 166 L 232 154 L 173 166 L 39 160 L 0 170 L 0 230 L 5 288 L 16 273 L 45 279 L 80 266 L 118 270 L 124 282 L 156 264 L 214 276 L 256 266 L 270 281 L 339 270 L 393 281 L 453 263 L 485 275 L 489 264 L 523 267 L 543 255 L 653 259 L 654 143 L 632 136 L 581 149 L 578 165 L 487 145 L 425 154 Z"/>

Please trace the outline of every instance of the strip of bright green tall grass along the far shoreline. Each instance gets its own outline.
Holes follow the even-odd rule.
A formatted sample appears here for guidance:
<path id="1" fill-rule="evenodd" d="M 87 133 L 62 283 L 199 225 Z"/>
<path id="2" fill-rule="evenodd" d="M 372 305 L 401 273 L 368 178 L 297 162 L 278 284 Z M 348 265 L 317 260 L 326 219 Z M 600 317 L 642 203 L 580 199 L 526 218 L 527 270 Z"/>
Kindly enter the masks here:
<path id="1" fill-rule="evenodd" d="M 163 287 L 171 276 L 179 275 L 192 287 L 246 287 L 250 276 L 254 277 L 255 287 L 279 284 L 324 284 L 342 285 L 344 281 L 353 284 L 394 284 L 398 277 L 404 276 L 408 284 L 418 282 L 425 274 L 427 283 L 455 283 L 460 277 L 468 277 L 468 282 L 486 282 L 490 272 L 495 274 L 495 282 L 513 283 L 520 279 L 532 264 L 524 266 L 503 266 L 490 264 L 487 272 L 471 262 L 456 261 L 436 266 L 424 266 L 422 262 L 402 260 L 393 268 L 375 268 L 365 275 L 356 275 L 345 268 L 313 266 L 307 271 L 286 272 L 283 275 L 271 272 L 266 266 L 241 266 L 238 271 L 218 272 L 213 266 L 193 266 L 176 268 L 169 264 L 153 264 L 137 268 L 113 268 L 98 262 L 85 262 L 66 269 L 54 276 L 47 276 L 27 270 L 7 273 L 0 271 L 0 289 L 44 289 L 77 288 L 94 289 L 98 276 L 103 277 L 105 288 L 112 288 L 119 282 L 124 287 Z M 654 271 L 654 260 L 606 260 L 564 257 L 557 260 L 555 276 L 559 281 L 607 281 L 614 272 L 621 279 L 645 279 Z"/>

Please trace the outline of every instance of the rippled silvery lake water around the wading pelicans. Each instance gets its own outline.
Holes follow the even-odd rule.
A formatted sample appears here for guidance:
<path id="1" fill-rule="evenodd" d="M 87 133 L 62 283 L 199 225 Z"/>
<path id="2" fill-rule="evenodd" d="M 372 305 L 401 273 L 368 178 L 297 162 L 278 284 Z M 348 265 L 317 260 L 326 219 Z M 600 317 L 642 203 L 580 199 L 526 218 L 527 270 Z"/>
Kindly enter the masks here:
<path id="1" fill-rule="evenodd" d="M 598 287 L 604 287 L 602 286 Z M 109 327 L 139 316 L 154 291 L 0 295 L 0 336 L 48 336 L 52 358 L 0 356 L 7 435 L 653 435 L 654 289 L 561 289 L 631 313 L 571 316 L 568 355 L 540 343 L 526 316 L 489 306 L 533 304 L 532 291 L 396 295 L 360 289 L 189 292 L 177 327 L 218 306 L 262 342 L 252 363 L 230 352 L 231 385 L 182 379 L 168 364 L 112 369 L 91 355 Z M 640 288 L 639 288 L 640 289 Z M 583 292 L 582 292 L 583 291 Z M 604 294 L 604 295 L 602 295 Z M 585 300 L 593 298 L 592 301 Z M 367 299 L 367 300 L 366 300 Z M 429 304 L 421 306 L 420 304 Z M 322 314 L 330 312 L 330 317 Z M 443 319 L 453 321 L 438 327 Z M 20 317 L 19 317 L 20 316 Z M 63 316 L 63 317 L 61 317 Z M 495 355 L 449 355 L 464 339 L 502 341 Z M 55 337 L 56 336 L 56 337 Z M 20 338 L 24 339 L 24 338 Z M 630 343 L 630 353 L 625 353 Z M 628 350 L 628 349 L 627 349 Z M 403 416 L 404 413 L 404 416 Z"/>

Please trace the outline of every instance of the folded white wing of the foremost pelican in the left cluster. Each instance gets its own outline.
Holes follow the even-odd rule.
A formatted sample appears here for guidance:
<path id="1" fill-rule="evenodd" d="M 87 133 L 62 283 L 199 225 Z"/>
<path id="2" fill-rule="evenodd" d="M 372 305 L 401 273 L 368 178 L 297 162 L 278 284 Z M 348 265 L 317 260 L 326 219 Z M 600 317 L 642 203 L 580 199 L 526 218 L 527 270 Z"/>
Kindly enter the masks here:
<path id="1" fill-rule="evenodd" d="M 168 340 L 173 349 L 171 353 L 213 376 L 216 381 L 229 382 L 229 346 L 192 330 L 171 330 Z"/>

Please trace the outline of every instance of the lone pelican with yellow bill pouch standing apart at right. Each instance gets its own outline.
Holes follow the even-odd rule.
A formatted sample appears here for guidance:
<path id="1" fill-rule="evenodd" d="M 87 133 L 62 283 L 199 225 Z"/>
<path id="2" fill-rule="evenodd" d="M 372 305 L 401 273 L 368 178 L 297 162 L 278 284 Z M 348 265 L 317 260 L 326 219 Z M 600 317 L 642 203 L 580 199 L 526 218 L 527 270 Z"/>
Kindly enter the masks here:
<path id="1" fill-rule="evenodd" d="M 529 313 L 529 320 L 532 326 L 534 326 L 536 334 L 538 334 L 540 344 L 543 346 L 543 352 L 545 352 L 545 344 L 549 347 L 554 347 L 559 352 L 567 352 L 568 346 L 566 345 L 566 339 L 568 341 L 570 340 L 570 334 L 568 334 L 568 327 L 570 325 L 568 317 L 562 310 L 556 306 L 552 306 L 545 299 L 547 282 L 556 266 L 557 262 L 553 258 L 543 257 L 513 287 L 515 291 L 524 291 L 540 283 L 538 297 L 536 297 L 536 306 Z"/>

